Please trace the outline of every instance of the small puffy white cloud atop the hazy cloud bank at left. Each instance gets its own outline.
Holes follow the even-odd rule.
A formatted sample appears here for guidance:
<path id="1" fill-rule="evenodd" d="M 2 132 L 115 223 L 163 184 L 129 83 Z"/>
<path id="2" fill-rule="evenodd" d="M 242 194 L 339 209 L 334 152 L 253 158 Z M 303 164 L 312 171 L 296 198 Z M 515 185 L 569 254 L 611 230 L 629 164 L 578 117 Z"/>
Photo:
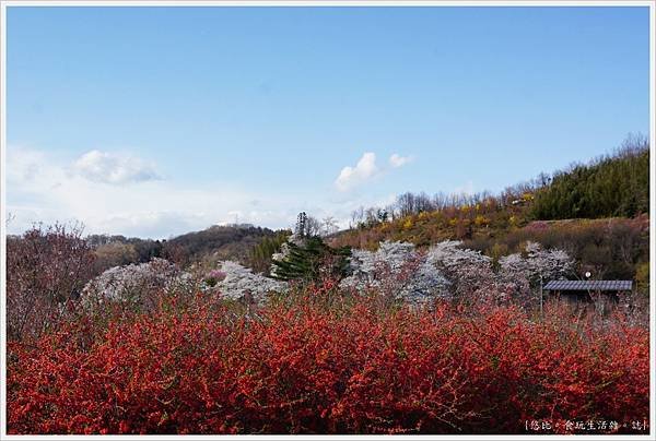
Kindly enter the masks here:
<path id="1" fill-rule="evenodd" d="M 161 179 L 152 165 L 137 157 L 97 150 L 80 156 L 73 164 L 72 170 L 90 181 L 110 184 Z"/>

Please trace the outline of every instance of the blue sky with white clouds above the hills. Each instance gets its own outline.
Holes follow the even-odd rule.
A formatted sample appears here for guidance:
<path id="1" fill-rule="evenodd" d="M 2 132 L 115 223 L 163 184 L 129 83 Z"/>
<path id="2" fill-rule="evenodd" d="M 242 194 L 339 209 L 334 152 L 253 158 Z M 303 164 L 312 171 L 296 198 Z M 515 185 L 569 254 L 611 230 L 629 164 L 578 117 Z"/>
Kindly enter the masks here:
<path id="1" fill-rule="evenodd" d="M 301 210 L 345 225 L 408 190 L 496 192 L 648 134 L 648 19 L 10 7 L 9 231 L 168 237 Z"/>

